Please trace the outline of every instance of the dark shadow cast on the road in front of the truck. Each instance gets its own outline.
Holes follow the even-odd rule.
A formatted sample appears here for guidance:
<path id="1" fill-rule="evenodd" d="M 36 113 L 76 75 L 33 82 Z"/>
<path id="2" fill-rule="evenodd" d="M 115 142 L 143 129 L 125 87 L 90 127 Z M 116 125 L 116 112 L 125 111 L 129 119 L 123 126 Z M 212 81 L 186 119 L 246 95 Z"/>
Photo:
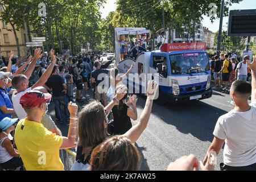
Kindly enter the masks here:
<path id="1" fill-rule="evenodd" d="M 139 97 L 137 106 L 143 108 L 145 98 Z M 154 101 L 152 113 L 163 122 L 173 125 L 184 134 L 192 134 L 201 141 L 212 142 L 213 130 L 218 118 L 226 114 L 225 110 L 205 104 L 201 101 L 189 101 L 183 104 L 159 105 Z"/>

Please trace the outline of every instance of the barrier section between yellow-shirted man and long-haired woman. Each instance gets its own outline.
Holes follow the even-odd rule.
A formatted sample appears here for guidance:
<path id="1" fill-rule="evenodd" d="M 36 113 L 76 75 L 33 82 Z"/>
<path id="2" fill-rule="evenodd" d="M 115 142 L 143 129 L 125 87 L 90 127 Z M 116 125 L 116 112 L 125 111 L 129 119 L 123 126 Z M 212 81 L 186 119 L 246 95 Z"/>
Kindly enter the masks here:
<path id="1" fill-rule="evenodd" d="M 76 160 L 76 152 L 69 149 L 60 150 L 60 159 L 64 165 L 64 170 L 70 171 Z"/>

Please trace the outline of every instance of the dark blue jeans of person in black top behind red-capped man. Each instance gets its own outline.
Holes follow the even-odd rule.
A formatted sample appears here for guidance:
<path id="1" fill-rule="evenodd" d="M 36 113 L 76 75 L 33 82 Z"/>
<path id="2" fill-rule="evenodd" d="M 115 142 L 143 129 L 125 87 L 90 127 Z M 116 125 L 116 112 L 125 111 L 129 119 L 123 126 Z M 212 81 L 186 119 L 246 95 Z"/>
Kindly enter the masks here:
<path id="1" fill-rule="evenodd" d="M 53 102 L 55 105 L 56 118 L 58 118 L 60 121 L 63 121 L 65 118 L 69 119 L 68 97 L 67 96 L 53 97 Z M 61 115 L 60 105 L 63 105 L 65 115 Z"/>

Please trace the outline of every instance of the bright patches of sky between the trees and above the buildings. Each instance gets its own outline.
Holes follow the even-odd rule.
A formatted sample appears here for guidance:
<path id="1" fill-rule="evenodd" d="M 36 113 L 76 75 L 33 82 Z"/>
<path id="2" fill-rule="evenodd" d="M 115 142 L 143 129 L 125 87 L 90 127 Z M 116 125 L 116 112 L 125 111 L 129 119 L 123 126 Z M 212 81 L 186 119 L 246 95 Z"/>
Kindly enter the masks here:
<path id="1" fill-rule="evenodd" d="M 108 0 L 104 5 L 104 9 L 101 9 L 102 17 L 105 18 L 110 11 L 115 11 L 117 5 L 115 5 L 116 0 Z M 233 4 L 230 10 L 246 10 L 246 9 L 256 9 L 256 0 L 243 0 L 240 3 Z M 216 32 L 220 23 L 220 19 L 215 20 L 213 23 L 210 22 L 210 19 L 207 16 L 203 17 L 203 26 L 209 28 L 209 30 Z M 226 30 L 226 23 L 228 23 L 228 16 L 224 17 L 223 28 Z"/>

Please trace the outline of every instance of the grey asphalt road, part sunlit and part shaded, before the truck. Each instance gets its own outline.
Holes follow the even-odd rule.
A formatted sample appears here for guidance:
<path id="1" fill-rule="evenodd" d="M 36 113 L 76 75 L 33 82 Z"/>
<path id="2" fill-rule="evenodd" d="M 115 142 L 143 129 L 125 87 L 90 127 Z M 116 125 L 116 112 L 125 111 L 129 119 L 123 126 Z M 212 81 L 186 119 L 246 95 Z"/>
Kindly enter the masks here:
<path id="1" fill-rule="evenodd" d="M 90 92 L 92 95 L 92 92 Z M 85 105 L 89 100 L 80 106 Z M 137 107 L 141 115 L 146 98 L 139 96 Z M 142 156 L 142 170 L 166 170 L 168 164 L 183 155 L 194 154 L 203 160 L 213 139 L 218 117 L 232 110 L 229 93 L 214 90 L 212 98 L 183 104 L 159 105 L 154 102 L 150 121 L 136 143 Z M 55 115 L 53 104 L 49 107 Z M 133 121 L 133 124 L 137 121 Z M 59 124 L 64 136 L 68 123 Z M 217 157 L 216 170 L 223 161 L 222 150 Z"/>

